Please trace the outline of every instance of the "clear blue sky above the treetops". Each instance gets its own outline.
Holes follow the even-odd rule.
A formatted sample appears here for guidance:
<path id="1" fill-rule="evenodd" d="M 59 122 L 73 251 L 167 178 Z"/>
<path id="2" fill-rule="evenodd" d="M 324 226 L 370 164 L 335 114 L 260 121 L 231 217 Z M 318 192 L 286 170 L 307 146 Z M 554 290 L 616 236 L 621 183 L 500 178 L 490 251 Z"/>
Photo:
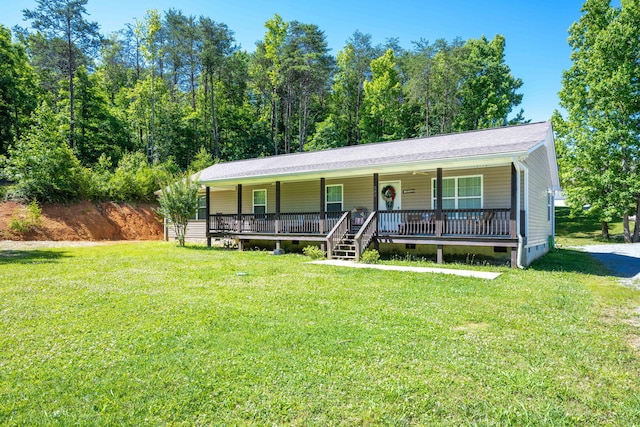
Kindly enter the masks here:
<path id="1" fill-rule="evenodd" d="M 182 10 L 224 22 L 236 41 L 252 51 L 262 39 L 264 23 L 278 13 L 286 21 L 316 24 L 336 55 L 355 30 L 371 34 L 374 44 L 396 37 L 404 48 L 424 38 L 463 40 L 496 34 L 506 37 L 506 62 L 521 78 L 520 107 L 532 121 L 548 120 L 558 108 L 562 71 L 571 65 L 567 29 L 580 18 L 583 0 L 89 0 L 89 19 L 108 34 L 147 9 Z M 0 0 L 0 24 L 28 26 L 22 9 L 34 0 Z"/>

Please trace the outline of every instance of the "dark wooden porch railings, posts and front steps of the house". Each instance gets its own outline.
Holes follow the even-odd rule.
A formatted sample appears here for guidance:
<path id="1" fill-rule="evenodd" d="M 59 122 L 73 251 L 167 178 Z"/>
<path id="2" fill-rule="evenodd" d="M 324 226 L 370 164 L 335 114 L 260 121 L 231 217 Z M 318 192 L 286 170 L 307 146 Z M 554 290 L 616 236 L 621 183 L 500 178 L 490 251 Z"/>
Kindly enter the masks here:
<path id="1" fill-rule="evenodd" d="M 518 250 L 518 220 L 524 230 L 524 214 L 519 210 L 517 171 L 512 166 L 511 206 L 497 208 L 444 209 L 443 172 L 435 174 L 435 209 L 381 209 L 380 180 L 373 174 L 373 200 L 369 206 L 351 210 L 328 210 L 326 182 L 319 180 L 317 211 L 281 212 L 281 183 L 276 181 L 275 212 L 243 213 L 243 186 L 237 192 L 236 213 L 210 214 L 207 219 L 207 241 L 227 236 L 238 242 L 239 249 L 252 240 L 275 242 L 308 242 L 320 244 L 328 258 L 359 259 L 369 245 L 380 243 L 405 245 L 435 245 L 437 262 L 443 262 L 444 246 L 488 246 L 511 248 L 511 264 L 516 265 Z M 508 176 L 508 175 L 507 175 Z M 507 186 L 507 188 L 509 188 Z M 369 191 L 371 191 L 369 190 Z M 207 212 L 211 212 L 207 191 Z M 507 198 L 509 200 L 509 198 Z M 266 202 L 265 202 L 266 205 Z M 520 235 L 522 235 L 522 231 Z"/>

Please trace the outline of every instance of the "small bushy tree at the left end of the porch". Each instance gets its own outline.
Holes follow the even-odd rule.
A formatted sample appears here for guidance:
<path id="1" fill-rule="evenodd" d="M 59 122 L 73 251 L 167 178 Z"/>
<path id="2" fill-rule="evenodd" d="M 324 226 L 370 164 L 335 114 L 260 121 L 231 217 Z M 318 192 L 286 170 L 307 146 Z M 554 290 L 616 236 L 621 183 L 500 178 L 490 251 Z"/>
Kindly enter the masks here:
<path id="1" fill-rule="evenodd" d="M 158 212 L 169 222 L 180 246 L 184 246 L 189 219 L 198 210 L 197 178 L 182 177 L 167 186 L 160 196 Z"/>

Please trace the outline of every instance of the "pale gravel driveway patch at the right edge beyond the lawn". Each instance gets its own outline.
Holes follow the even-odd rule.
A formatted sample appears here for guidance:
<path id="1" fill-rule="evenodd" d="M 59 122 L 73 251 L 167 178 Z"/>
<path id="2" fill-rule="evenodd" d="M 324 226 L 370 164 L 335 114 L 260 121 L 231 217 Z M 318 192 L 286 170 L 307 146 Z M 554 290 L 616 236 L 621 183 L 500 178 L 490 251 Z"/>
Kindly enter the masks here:
<path id="1" fill-rule="evenodd" d="M 620 282 L 640 289 L 640 243 L 582 246 L 607 266 Z"/>

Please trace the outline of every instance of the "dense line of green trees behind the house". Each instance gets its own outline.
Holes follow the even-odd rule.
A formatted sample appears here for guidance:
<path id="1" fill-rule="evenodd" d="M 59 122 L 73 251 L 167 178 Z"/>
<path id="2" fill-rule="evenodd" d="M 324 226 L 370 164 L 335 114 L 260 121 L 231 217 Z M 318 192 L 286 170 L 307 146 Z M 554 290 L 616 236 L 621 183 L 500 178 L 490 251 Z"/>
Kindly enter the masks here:
<path id="1" fill-rule="evenodd" d="M 276 14 L 247 52 L 224 23 L 177 9 L 105 36 L 87 1 L 37 0 L 28 28 L 0 27 L 0 156 L 15 196 L 112 198 L 138 169 L 158 179 L 525 121 L 501 35 L 403 49 L 355 31 L 334 57 L 317 25 Z M 131 176 L 118 183 L 118 170 Z"/>

